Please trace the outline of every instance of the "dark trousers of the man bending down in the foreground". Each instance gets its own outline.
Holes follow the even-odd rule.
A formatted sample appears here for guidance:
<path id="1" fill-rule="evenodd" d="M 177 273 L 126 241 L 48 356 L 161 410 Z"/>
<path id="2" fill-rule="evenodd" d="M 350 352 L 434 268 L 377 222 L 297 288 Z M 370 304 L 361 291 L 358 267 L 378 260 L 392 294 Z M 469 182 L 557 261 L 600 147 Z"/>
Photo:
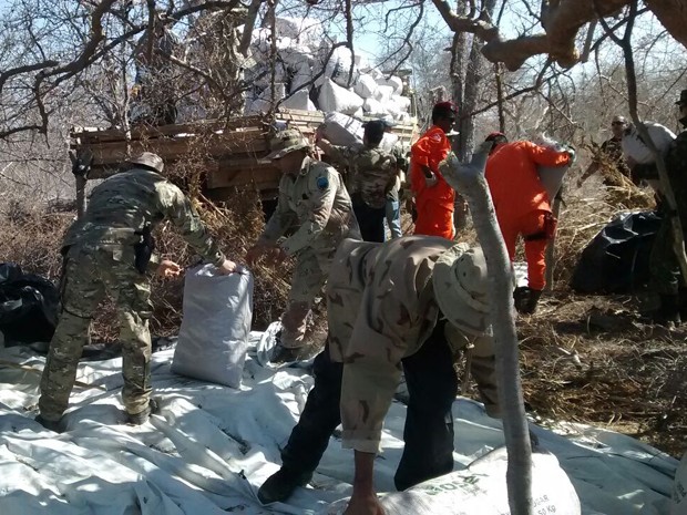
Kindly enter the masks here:
<path id="1" fill-rule="evenodd" d="M 451 406 L 458 392 L 458 379 L 443 325 L 439 323 L 422 348 L 403 359 L 402 364 L 410 401 L 403 429 L 406 446 L 394 476 L 398 490 L 453 470 Z M 293 473 L 317 468 L 331 433 L 341 422 L 342 372 L 344 364 L 329 359 L 328 348 L 315 358 L 315 387 L 281 451 L 284 468 Z"/>

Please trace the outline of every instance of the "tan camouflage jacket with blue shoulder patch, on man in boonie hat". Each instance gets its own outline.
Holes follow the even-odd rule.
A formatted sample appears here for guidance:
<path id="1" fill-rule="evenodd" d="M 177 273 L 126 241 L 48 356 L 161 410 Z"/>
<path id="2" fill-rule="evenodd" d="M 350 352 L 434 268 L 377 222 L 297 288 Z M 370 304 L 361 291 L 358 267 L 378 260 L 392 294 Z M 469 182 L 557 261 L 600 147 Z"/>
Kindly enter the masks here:
<path id="1" fill-rule="evenodd" d="M 258 244 L 275 244 L 287 230 L 297 230 L 280 246 L 288 255 L 310 247 L 331 247 L 358 235 L 358 222 L 339 173 L 321 161 L 306 157 L 298 174 L 284 174 L 279 199 Z"/>

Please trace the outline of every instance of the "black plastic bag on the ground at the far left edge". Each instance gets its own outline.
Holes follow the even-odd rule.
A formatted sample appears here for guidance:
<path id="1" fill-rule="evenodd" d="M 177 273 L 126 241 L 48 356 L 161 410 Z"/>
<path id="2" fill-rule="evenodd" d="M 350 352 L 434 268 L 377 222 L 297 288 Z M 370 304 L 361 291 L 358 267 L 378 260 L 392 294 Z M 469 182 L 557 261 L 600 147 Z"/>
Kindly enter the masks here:
<path id="1" fill-rule="evenodd" d="M 60 292 L 48 279 L 0 264 L 0 331 L 6 346 L 50 341 L 58 323 Z"/>

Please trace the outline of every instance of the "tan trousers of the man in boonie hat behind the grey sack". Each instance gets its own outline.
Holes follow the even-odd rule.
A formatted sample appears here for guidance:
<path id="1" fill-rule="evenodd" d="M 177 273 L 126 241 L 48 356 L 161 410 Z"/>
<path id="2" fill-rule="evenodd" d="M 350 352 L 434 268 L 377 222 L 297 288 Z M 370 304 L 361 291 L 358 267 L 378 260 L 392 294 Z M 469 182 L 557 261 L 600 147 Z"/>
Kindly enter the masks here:
<path id="1" fill-rule="evenodd" d="M 303 347 L 310 309 L 329 275 L 336 249 L 308 249 L 298 255 L 288 305 L 281 316 L 281 344 L 288 349 Z"/>

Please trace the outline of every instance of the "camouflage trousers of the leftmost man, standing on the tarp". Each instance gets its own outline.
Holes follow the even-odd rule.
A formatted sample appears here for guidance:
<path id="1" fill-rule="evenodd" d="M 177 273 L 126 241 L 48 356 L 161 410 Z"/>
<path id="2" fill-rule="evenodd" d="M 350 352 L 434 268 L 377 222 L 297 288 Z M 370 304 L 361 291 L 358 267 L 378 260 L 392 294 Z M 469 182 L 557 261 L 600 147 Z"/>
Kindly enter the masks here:
<path id="1" fill-rule="evenodd" d="M 114 300 L 120 321 L 124 406 L 131 414 L 147 408 L 152 391 L 151 289 L 133 264 L 131 246 L 70 248 L 62 270 L 62 310 L 41 378 L 39 409 L 44 419 L 57 421 L 66 410 L 91 320 L 106 295 Z"/>

